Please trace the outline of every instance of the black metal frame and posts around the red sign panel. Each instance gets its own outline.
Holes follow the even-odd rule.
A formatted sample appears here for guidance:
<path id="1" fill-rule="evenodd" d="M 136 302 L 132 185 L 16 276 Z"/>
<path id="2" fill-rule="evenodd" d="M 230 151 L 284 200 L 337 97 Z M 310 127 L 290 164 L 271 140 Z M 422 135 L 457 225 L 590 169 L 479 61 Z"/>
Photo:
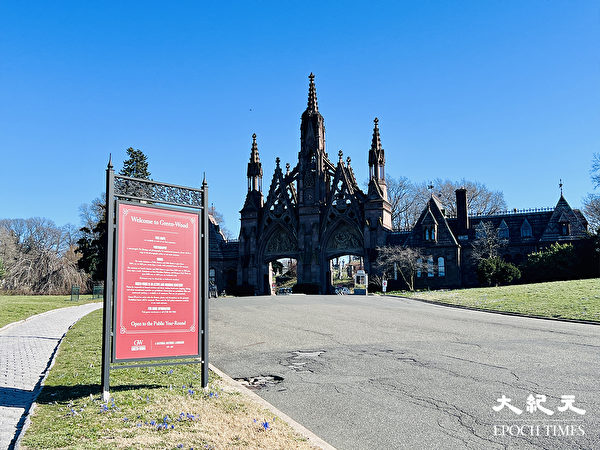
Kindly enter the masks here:
<path id="1" fill-rule="evenodd" d="M 139 359 L 115 358 L 116 293 L 117 293 L 117 212 L 119 204 L 148 205 L 152 208 L 193 213 L 198 215 L 198 355 L 151 357 Z M 200 189 L 160 183 L 152 180 L 117 175 L 112 162 L 106 169 L 106 273 L 104 280 L 104 315 L 102 338 L 102 396 L 109 399 L 110 371 L 132 367 L 202 364 L 201 384 L 208 385 L 208 186 L 203 180 Z M 197 358 L 192 361 L 173 361 Z M 199 359 L 198 359 L 199 358 Z M 119 364 L 171 360 L 170 362 Z"/>

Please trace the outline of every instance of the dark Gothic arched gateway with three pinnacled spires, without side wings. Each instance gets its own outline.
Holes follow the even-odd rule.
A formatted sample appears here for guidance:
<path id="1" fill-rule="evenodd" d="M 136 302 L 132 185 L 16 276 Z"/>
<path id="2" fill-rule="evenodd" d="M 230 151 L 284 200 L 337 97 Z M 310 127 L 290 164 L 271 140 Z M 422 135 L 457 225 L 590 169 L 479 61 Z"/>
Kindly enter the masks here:
<path id="1" fill-rule="evenodd" d="M 237 281 L 257 294 L 270 292 L 269 263 L 281 258 L 297 261 L 298 283 L 331 292 L 329 261 L 341 255 L 361 256 L 369 272 L 376 247 L 385 244 L 392 227 L 378 120 L 369 150 L 369 188 L 364 193 L 350 158 L 344 161 L 340 150 L 336 164 L 325 152 L 325 126 L 312 73 L 309 79 L 298 163 L 293 169 L 286 164 L 284 173 L 276 159 L 266 200 L 256 135 L 252 135 L 248 194 L 240 211 Z"/>

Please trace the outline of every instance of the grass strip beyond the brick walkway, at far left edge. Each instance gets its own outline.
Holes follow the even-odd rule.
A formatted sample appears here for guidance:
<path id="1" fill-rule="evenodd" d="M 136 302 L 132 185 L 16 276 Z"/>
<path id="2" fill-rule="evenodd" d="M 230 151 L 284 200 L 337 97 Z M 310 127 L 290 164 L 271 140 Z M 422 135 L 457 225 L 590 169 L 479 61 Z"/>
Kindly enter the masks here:
<path id="1" fill-rule="evenodd" d="M 70 295 L 0 295 L 0 328 L 52 309 L 98 301 L 102 299 L 91 295 L 81 295 L 79 301 L 71 301 Z"/>

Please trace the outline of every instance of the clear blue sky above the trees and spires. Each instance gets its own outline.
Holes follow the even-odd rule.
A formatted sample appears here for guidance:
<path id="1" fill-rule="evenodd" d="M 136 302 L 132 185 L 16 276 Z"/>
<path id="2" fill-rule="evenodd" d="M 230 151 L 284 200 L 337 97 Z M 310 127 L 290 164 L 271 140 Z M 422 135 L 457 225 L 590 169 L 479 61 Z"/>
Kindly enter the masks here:
<path id="1" fill-rule="evenodd" d="M 308 74 L 359 183 L 466 178 L 510 208 L 581 206 L 600 151 L 598 1 L 2 2 L 0 217 L 79 225 L 112 152 L 199 186 L 237 234 L 251 135 L 297 160 Z"/>

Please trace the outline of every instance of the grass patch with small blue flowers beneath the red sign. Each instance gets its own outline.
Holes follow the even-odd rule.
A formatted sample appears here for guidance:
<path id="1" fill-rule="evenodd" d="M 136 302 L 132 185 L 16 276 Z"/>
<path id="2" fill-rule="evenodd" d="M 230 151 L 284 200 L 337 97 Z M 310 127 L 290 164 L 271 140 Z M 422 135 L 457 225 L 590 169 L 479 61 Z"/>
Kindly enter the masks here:
<path id="1" fill-rule="evenodd" d="M 101 401 L 101 311 L 79 321 L 60 346 L 21 442 L 38 448 L 313 448 L 197 364 L 111 371 Z"/>

